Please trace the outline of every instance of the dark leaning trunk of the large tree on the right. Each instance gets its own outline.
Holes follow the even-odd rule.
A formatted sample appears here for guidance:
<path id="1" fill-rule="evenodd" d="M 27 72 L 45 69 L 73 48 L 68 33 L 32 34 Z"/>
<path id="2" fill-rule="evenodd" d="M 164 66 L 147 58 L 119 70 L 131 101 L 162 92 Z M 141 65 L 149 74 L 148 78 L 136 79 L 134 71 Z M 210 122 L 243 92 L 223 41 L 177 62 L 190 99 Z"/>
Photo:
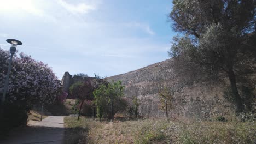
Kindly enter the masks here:
<path id="1" fill-rule="evenodd" d="M 243 111 L 242 98 L 240 97 L 240 94 L 238 93 L 238 89 L 236 86 L 236 76 L 235 76 L 234 70 L 232 68 L 229 69 L 228 75 L 229 75 L 229 81 L 230 81 L 232 93 L 234 95 L 234 99 L 236 102 L 237 112 L 240 113 Z"/>

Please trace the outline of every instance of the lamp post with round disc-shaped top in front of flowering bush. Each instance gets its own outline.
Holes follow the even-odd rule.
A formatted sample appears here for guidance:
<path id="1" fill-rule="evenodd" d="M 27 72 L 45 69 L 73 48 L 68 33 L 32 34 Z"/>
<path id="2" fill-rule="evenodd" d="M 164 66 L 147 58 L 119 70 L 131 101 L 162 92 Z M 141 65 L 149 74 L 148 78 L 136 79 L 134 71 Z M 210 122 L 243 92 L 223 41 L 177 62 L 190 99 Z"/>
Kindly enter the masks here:
<path id="1" fill-rule="evenodd" d="M 16 52 L 17 45 L 22 45 L 21 41 L 16 40 L 16 39 L 7 39 L 6 41 L 7 41 L 7 43 L 11 44 L 11 47 L 10 47 L 10 54 L 11 55 L 10 55 L 9 67 L 8 67 L 7 75 L 5 77 L 5 84 L 4 84 L 4 92 L 3 92 L 3 97 L 2 97 L 2 103 L 4 103 L 4 101 L 5 101 L 6 92 L 7 92 L 7 89 L 8 89 L 11 63 L 13 62 L 13 55 Z"/>

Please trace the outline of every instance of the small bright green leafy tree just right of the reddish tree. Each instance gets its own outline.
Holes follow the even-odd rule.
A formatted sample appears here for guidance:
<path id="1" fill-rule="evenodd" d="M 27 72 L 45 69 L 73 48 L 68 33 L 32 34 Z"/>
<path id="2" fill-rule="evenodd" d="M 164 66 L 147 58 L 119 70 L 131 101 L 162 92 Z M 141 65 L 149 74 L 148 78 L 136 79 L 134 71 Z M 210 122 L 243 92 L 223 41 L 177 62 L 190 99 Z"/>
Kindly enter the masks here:
<path id="1" fill-rule="evenodd" d="M 114 114 L 117 112 L 115 108 L 120 107 L 124 109 L 125 103 L 121 99 L 124 95 L 124 86 L 121 81 L 110 82 L 108 85 L 101 85 L 94 91 L 95 105 L 97 109 L 97 116 L 102 117 L 104 110 L 109 110 L 110 106 L 110 117 L 111 122 L 114 122 Z M 107 103 L 106 103 L 107 102 Z M 119 106 L 121 104 L 121 106 Z"/>

